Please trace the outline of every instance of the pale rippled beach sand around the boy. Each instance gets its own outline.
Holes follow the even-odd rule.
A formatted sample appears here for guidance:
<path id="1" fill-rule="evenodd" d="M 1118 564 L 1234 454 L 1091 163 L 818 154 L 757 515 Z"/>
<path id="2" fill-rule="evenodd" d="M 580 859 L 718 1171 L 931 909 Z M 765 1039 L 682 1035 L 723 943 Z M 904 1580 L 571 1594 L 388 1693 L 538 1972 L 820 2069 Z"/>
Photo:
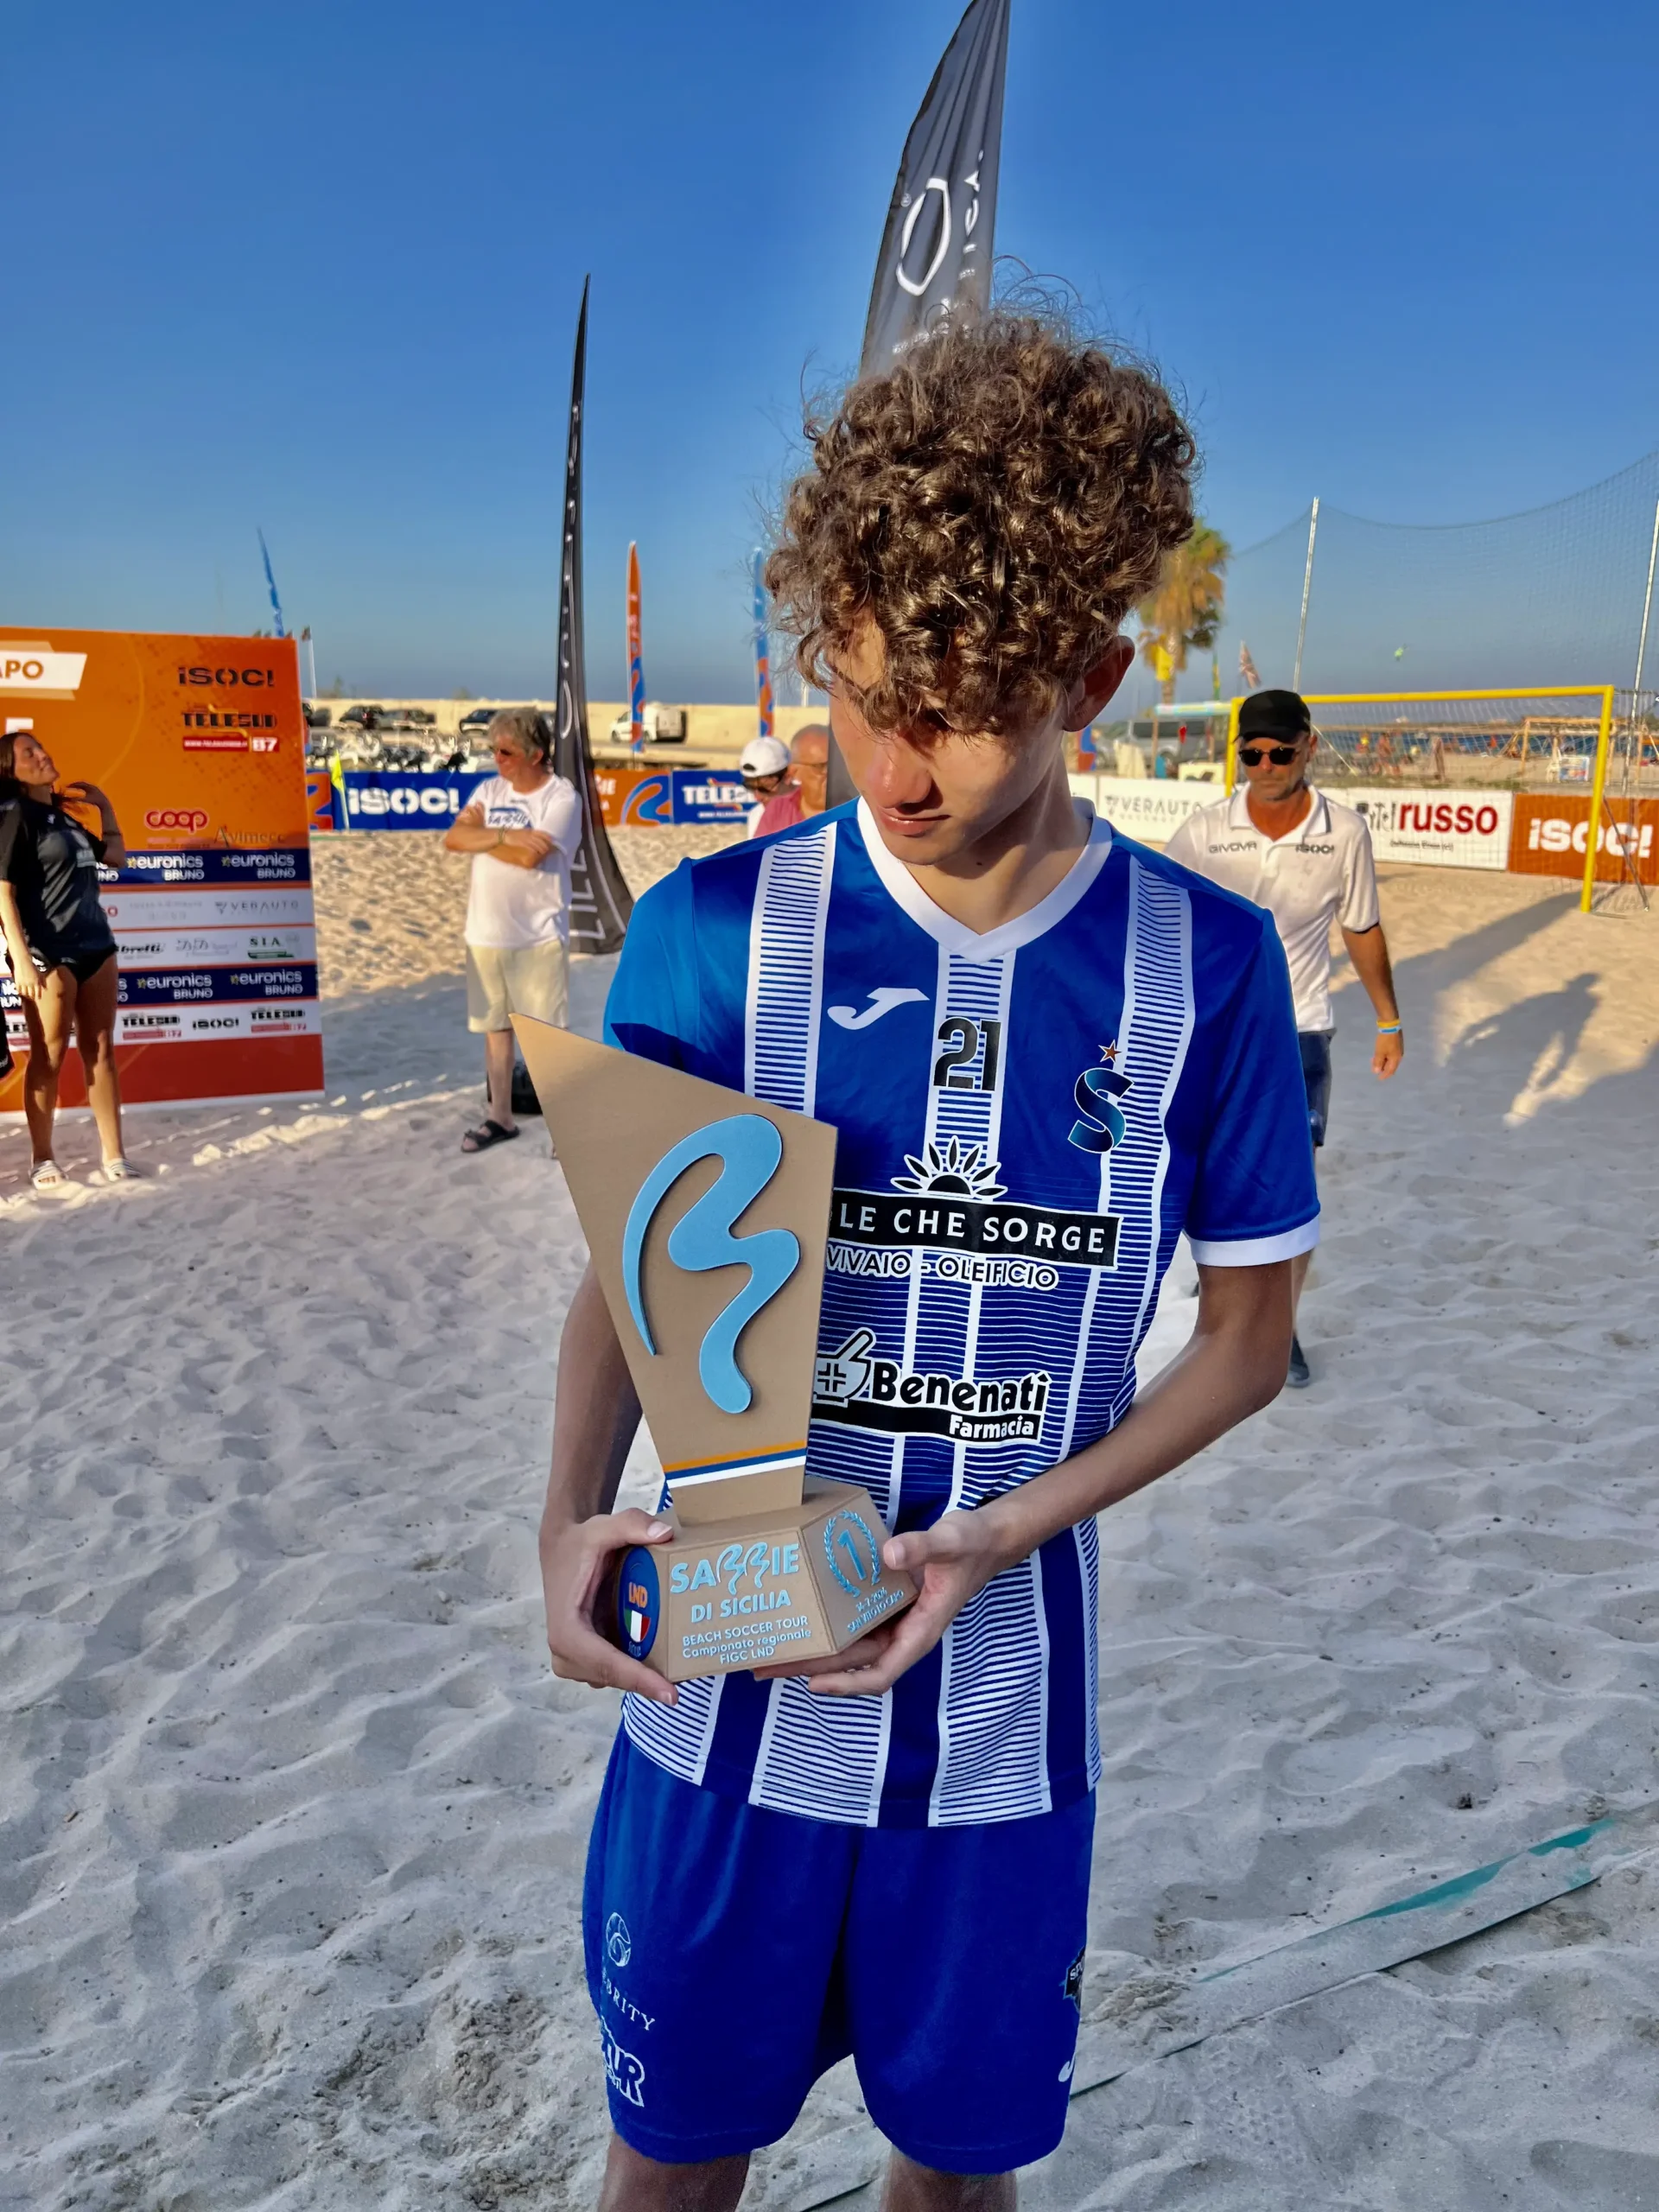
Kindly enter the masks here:
<path id="1" fill-rule="evenodd" d="M 540 1126 L 456 1152 L 462 872 L 319 885 L 327 1106 L 146 1113 L 150 1179 L 58 1201 L 0 1130 L 7 2212 L 597 2177 L 613 1703 L 551 1681 L 533 1562 L 580 1241 Z M 1343 995 L 1316 1387 L 1106 1522 L 1091 2017 L 1659 1794 L 1659 918 L 1431 872 L 1385 916 L 1411 1055 L 1376 1086 Z M 1624 2212 L 1657 2084 L 1648 1863 L 1077 2099 L 1024 2194 Z M 801 2135 L 854 2115 L 843 2068 Z"/>

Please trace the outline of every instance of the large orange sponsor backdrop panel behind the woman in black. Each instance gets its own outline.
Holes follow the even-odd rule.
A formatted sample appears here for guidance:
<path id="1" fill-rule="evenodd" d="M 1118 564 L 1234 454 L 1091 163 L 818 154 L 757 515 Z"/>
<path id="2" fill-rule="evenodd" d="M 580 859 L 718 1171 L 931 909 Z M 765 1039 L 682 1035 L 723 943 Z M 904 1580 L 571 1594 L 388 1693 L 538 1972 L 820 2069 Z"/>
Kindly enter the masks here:
<path id="1" fill-rule="evenodd" d="M 119 960 L 115 1057 L 128 1104 L 323 1088 L 305 785 L 290 637 L 0 628 L 0 714 L 60 783 L 97 783 L 126 841 L 100 869 Z M 82 810 L 77 810 L 82 812 Z M 95 810 L 84 810 L 97 827 Z M 11 1051 L 29 1037 L 0 980 Z M 80 1055 L 62 1102 L 84 1102 Z M 22 1066 L 0 1113 L 22 1106 Z"/>

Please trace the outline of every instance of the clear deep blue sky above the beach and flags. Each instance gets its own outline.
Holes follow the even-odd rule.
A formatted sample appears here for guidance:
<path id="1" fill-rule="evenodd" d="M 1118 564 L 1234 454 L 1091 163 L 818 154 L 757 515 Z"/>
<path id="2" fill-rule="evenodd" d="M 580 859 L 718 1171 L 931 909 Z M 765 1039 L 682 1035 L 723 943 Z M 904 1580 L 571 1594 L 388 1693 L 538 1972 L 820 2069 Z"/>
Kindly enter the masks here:
<path id="1" fill-rule="evenodd" d="M 845 374 L 958 0 L 9 0 L 7 622 L 551 688 L 593 272 L 588 679 L 748 688 L 745 555 Z M 1659 13 L 1015 0 L 998 252 L 1183 389 L 1237 546 L 1506 513 L 1659 445 Z"/>

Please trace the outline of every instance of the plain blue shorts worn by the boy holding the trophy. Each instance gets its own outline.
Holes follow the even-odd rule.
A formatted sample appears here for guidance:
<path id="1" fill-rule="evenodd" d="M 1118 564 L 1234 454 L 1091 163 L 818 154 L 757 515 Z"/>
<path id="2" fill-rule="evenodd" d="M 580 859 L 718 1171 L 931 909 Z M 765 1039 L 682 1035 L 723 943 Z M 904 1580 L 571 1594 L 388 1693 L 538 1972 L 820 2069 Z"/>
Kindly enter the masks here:
<path id="1" fill-rule="evenodd" d="M 843 1827 L 679 1781 L 617 1734 L 584 1896 L 624 2143 L 776 2143 L 852 2057 L 907 2159 L 1000 2174 L 1066 2126 L 1095 1801 L 975 1827 Z"/>

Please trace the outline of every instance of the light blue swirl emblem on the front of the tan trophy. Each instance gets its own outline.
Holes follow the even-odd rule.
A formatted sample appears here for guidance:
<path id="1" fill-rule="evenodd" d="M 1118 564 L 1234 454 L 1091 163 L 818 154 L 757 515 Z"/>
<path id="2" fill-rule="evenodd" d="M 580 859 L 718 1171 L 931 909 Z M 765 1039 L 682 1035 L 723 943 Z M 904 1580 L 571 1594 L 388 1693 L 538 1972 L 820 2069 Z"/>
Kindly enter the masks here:
<path id="1" fill-rule="evenodd" d="M 690 1137 L 681 1137 L 664 1152 L 628 1208 L 622 1232 L 622 1283 L 633 1325 L 655 1358 L 657 1340 L 650 1332 L 639 1281 L 646 1237 L 670 1188 L 699 1159 L 719 1159 L 721 1175 L 668 1232 L 668 1259 L 688 1274 L 706 1274 L 710 1267 L 748 1267 L 748 1283 L 710 1323 L 697 1352 L 697 1374 L 721 1413 L 748 1413 L 754 1391 L 737 1365 L 737 1340 L 801 1265 L 801 1243 L 790 1230 L 757 1230 L 752 1237 L 732 1237 L 732 1223 L 752 1199 L 759 1199 L 783 1159 L 783 1137 L 765 1115 L 734 1113 L 726 1121 L 710 1121 L 708 1128 L 692 1130 Z"/>

